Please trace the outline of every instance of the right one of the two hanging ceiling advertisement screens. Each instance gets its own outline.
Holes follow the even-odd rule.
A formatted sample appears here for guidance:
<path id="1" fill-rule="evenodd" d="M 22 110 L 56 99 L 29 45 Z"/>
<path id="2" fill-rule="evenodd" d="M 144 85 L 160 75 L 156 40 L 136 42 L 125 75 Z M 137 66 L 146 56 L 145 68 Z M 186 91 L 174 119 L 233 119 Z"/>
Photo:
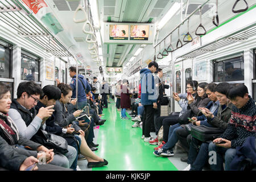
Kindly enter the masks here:
<path id="1" fill-rule="evenodd" d="M 148 25 L 131 25 L 130 40 L 148 40 L 149 26 Z"/>

